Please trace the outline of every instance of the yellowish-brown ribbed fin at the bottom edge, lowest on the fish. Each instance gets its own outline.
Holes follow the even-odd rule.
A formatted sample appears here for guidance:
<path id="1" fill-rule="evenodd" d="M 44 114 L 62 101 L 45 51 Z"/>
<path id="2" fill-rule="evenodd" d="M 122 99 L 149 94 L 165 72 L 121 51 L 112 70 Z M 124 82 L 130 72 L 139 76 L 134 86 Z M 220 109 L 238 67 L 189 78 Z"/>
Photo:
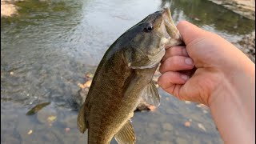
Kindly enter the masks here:
<path id="1" fill-rule="evenodd" d="M 115 140 L 118 144 L 134 144 L 136 141 L 134 128 L 130 123 L 130 120 L 126 122 L 122 129 L 114 135 Z"/>

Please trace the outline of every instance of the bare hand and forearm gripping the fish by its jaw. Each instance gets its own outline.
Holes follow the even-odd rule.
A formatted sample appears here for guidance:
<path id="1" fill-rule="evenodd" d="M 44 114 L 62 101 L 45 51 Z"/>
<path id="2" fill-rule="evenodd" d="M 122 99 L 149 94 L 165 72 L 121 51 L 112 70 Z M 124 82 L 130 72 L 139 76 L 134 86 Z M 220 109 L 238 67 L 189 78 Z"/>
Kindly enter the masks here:
<path id="1" fill-rule="evenodd" d="M 224 143 L 255 143 L 255 65 L 230 42 L 179 22 L 186 46 L 166 47 L 158 84 L 210 107 Z"/>

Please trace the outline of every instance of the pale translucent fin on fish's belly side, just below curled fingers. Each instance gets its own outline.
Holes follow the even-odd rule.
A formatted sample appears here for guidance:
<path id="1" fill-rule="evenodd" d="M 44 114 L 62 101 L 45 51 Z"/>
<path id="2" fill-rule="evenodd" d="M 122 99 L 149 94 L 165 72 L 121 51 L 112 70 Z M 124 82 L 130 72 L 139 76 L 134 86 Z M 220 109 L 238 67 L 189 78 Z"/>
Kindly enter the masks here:
<path id="1" fill-rule="evenodd" d="M 142 91 L 142 98 L 144 101 L 146 101 L 148 104 L 152 106 L 160 105 L 158 89 L 155 87 L 153 81 L 151 81 Z"/>

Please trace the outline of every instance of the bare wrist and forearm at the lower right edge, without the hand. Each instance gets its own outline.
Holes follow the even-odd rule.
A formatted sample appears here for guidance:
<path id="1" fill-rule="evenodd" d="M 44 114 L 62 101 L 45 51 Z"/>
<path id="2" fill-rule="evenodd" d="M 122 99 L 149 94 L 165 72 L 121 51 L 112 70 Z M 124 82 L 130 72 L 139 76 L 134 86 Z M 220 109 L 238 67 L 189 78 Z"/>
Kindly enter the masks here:
<path id="1" fill-rule="evenodd" d="M 255 142 L 255 73 L 234 70 L 210 96 L 214 122 L 225 143 Z"/>

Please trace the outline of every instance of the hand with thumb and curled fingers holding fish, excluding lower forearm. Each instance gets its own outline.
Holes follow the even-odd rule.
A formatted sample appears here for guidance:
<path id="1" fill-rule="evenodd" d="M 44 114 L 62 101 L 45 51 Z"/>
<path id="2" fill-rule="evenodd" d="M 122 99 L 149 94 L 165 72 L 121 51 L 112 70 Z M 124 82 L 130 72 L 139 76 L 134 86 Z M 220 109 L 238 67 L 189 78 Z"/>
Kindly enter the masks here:
<path id="1" fill-rule="evenodd" d="M 217 34 L 184 21 L 177 27 L 186 46 L 166 48 L 160 66 L 162 76 L 158 78 L 159 86 L 168 93 L 209 106 L 212 95 L 225 82 L 235 84 L 234 74 L 254 73 L 254 63 Z"/>

